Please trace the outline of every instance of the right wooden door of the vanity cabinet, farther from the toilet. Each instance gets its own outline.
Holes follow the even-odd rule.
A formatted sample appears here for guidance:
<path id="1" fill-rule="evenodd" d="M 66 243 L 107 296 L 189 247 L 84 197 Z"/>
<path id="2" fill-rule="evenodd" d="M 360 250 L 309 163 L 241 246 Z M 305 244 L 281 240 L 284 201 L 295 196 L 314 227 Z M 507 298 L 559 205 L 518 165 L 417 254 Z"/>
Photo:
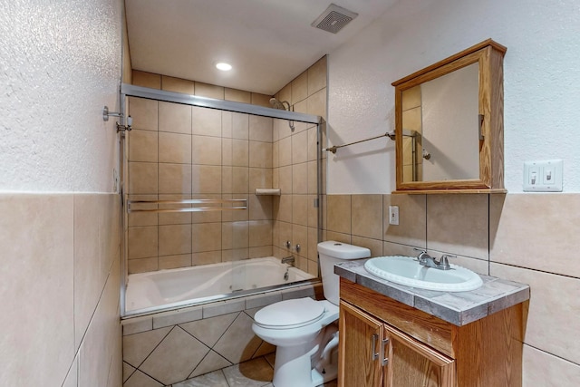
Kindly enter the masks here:
<path id="1" fill-rule="evenodd" d="M 384 387 L 455 387 L 455 361 L 384 325 Z"/>

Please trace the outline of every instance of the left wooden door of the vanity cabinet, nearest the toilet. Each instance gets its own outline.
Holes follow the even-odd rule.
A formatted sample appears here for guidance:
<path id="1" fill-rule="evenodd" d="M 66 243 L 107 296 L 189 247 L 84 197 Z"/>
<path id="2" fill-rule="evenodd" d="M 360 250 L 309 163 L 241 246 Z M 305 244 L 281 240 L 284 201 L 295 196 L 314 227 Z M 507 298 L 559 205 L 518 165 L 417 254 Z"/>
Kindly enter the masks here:
<path id="1" fill-rule="evenodd" d="M 341 387 L 382 386 L 383 323 L 341 301 L 339 317 L 339 375 Z"/>

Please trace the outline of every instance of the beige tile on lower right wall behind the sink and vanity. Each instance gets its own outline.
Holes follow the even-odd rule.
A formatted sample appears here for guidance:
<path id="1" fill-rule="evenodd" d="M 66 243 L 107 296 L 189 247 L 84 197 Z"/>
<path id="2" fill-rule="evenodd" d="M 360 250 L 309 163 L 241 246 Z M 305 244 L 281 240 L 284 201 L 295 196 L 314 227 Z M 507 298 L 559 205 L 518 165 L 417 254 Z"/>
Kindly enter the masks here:
<path id="1" fill-rule="evenodd" d="M 399 226 L 389 225 L 390 205 L 399 206 Z M 324 239 L 369 247 L 372 256 L 427 248 L 530 285 L 524 385 L 577 383 L 580 343 L 571 338 L 580 330 L 580 269 L 573 264 L 580 195 L 329 195 L 327 208 Z"/>

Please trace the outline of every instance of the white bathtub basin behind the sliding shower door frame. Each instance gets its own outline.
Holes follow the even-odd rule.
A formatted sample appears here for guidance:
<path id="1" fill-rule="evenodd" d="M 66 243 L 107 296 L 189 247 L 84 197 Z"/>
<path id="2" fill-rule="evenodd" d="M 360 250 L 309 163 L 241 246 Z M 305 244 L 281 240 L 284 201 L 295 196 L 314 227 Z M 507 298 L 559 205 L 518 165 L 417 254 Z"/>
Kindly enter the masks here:
<path id="1" fill-rule="evenodd" d="M 125 315 L 202 304 L 267 291 L 313 279 L 274 256 L 131 274 L 125 292 Z"/>

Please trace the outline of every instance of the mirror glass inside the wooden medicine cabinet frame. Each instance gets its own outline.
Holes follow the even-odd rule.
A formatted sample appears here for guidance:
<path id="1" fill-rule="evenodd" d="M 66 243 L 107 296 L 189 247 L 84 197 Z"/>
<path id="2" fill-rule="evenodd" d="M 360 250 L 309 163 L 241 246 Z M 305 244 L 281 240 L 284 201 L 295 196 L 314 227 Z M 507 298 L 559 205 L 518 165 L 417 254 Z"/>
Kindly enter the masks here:
<path id="1" fill-rule="evenodd" d="M 469 64 L 402 92 L 404 182 L 478 179 L 478 72 Z"/>

